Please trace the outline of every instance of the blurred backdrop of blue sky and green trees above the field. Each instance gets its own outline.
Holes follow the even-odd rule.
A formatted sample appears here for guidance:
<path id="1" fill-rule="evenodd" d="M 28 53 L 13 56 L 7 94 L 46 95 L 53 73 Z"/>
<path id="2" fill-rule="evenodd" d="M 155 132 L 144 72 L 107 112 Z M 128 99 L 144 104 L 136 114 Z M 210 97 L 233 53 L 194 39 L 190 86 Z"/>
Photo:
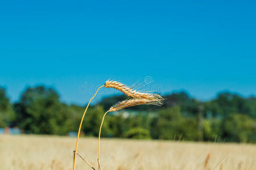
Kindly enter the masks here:
<path id="1" fill-rule="evenodd" d="M 108 79 L 166 99 L 109 113 L 102 137 L 256 142 L 254 1 L 0 2 L 0 134 L 76 136 Z M 82 125 L 97 136 L 102 89 Z"/>

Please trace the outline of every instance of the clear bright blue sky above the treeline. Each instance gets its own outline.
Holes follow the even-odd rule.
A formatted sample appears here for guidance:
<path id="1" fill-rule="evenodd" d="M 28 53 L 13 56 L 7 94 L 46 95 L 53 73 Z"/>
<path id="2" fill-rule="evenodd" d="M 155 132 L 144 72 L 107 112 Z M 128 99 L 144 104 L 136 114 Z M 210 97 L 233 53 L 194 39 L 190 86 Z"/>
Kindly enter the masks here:
<path id="1" fill-rule="evenodd" d="M 11 101 L 45 84 L 84 104 L 84 82 L 150 76 L 200 100 L 255 95 L 255 21 L 255 1 L 1 1 L 0 86 Z"/>

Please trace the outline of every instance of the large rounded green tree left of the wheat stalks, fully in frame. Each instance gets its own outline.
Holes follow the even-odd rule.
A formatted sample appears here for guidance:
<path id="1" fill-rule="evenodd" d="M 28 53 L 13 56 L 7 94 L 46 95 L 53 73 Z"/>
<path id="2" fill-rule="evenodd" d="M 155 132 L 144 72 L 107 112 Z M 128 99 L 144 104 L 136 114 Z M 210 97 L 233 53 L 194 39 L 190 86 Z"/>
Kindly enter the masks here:
<path id="1" fill-rule="evenodd" d="M 27 88 L 15 110 L 19 127 L 29 133 L 64 135 L 69 130 L 68 107 L 52 88 Z"/>

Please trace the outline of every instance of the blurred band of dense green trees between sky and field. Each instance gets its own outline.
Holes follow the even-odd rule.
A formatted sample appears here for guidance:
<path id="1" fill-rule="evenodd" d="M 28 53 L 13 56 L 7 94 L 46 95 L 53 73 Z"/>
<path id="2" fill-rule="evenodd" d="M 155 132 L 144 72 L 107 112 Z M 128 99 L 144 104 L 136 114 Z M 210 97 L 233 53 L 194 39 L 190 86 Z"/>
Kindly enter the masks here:
<path id="1" fill-rule="evenodd" d="M 164 98 L 162 107 L 143 105 L 108 113 L 102 137 L 256 142 L 255 97 L 222 92 L 216 99 L 202 102 L 175 92 Z M 123 99 L 126 96 L 112 96 L 89 107 L 82 125 L 84 134 L 96 137 L 105 111 Z M 83 112 L 84 107 L 62 103 L 52 88 L 27 88 L 13 105 L 0 88 L 0 127 L 66 135 L 77 131 Z"/>

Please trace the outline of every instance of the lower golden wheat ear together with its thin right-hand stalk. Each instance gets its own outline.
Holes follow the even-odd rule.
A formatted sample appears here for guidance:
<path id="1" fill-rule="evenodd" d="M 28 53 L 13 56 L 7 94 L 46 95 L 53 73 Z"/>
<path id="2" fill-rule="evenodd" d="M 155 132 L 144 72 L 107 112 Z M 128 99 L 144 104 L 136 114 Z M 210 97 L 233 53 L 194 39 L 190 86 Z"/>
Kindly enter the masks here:
<path id="1" fill-rule="evenodd" d="M 100 139 L 101 139 L 101 128 L 104 122 L 104 118 L 108 112 L 114 112 L 114 111 L 119 111 L 123 108 L 127 107 L 133 107 L 135 105 L 142 105 L 142 104 L 154 104 L 154 105 L 162 105 L 162 100 L 160 99 L 129 99 L 129 100 L 124 100 L 124 101 L 119 101 L 117 104 L 113 105 L 109 111 L 106 111 L 104 114 L 102 121 L 101 121 L 101 126 L 100 126 L 100 131 L 98 133 L 98 169 L 100 170 Z"/>

